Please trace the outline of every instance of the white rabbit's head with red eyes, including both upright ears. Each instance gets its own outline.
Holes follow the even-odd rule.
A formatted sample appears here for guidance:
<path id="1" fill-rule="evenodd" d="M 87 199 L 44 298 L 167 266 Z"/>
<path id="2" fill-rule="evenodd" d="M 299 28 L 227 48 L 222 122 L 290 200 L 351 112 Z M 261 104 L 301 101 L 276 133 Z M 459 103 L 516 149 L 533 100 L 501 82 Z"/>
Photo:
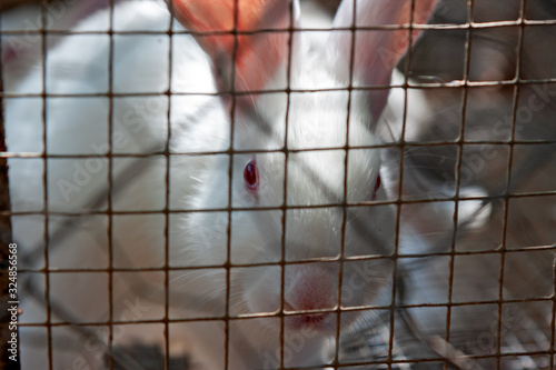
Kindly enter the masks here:
<path id="1" fill-rule="evenodd" d="M 409 24 L 426 22 L 435 4 L 344 1 L 334 29 L 310 34 L 297 29 L 296 1 L 242 0 L 236 11 L 232 0 L 170 4 L 198 32 L 220 90 L 236 92 L 222 98 L 234 116 L 232 158 L 215 160 L 196 200 L 200 208 L 231 206 L 229 230 L 226 212 L 221 220 L 191 212 L 185 238 L 202 263 L 229 257 L 241 310 L 389 303 L 396 218 L 390 206 L 374 203 L 386 197 L 374 126 L 391 70 L 417 36 Z M 390 28 L 373 29 L 381 26 Z M 215 222 L 225 227 L 199 233 Z M 330 333 L 331 316 L 291 316 L 286 326 Z M 342 324 L 358 317 L 342 313 Z"/>

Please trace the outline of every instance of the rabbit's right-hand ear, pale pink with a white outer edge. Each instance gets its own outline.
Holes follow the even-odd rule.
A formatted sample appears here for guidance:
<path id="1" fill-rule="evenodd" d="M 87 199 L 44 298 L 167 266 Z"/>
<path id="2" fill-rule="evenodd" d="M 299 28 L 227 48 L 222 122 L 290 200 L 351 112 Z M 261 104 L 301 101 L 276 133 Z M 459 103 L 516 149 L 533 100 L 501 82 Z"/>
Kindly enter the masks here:
<path id="1" fill-rule="evenodd" d="M 354 17 L 354 1 L 357 17 Z M 393 69 L 408 48 L 409 24 L 425 24 L 436 3 L 437 0 L 344 0 L 334 20 L 334 28 L 355 26 L 356 31 L 335 31 L 331 34 L 330 50 L 335 50 L 331 58 L 340 80 L 348 80 L 349 77 L 351 37 L 355 33 L 354 86 L 389 84 Z M 393 27 L 389 30 L 369 29 L 383 26 Z M 404 29 L 399 29 L 400 26 Z M 358 30 L 358 28 L 367 29 Z M 420 30 L 414 29 L 411 36 L 414 42 L 419 33 Z M 375 123 L 386 106 L 387 96 L 387 89 L 369 92 Z"/>

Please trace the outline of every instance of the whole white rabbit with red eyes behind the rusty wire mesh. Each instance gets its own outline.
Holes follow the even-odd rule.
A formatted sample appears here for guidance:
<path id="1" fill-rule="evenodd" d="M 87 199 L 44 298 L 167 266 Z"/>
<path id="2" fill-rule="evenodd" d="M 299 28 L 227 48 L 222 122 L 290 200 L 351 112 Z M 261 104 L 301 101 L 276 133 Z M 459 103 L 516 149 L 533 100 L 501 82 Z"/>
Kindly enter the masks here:
<path id="1" fill-rule="evenodd" d="M 254 0 L 239 2 L 239 30 L 266 32 L 235 42 L 221 32 L 232 28 L 234 3 L 173 1 L 177 20 L 197 33 L 173 26 L 171 49 L 167 9 L 118 4 L 113 30 L 135 34 L 116 33 L 112 42 L 107 34 L 69 36 L 48 58 L 46 106 L 40 97 L 8 99 L 10 151 L 54 156 L 47 160 L 47 189 L 42 159 L 10 159 L 13 211 L 40 212 L 47 200 L 54 212 L 49 267 L 123 269 L 111 280 L 102 271 L 50 273 L 49 302 L 68 314 L 28 303 L 23 322 L 41 323 L 47 314 L 85 323 L 148 321 L 113 326 L 113 344 L 163 343 L 163 324 L 149 322 L 165 317 L 168 297 L 168 319 L 176 320 L 170 351 L 187 337 L 207 369 L 224 369 L 226 360 L 228 369 L 268 369 L 325 367 L 338 331 L 378 327 L 389 314 L 396 217 L 391 206 L 373 203 L 386 199 L 373 129 L 388 89 L 348 88 L 351 80 L 357 88 L 388 84 L 409 30 L 361 30 L 353 42 L 354 2 L 345 0 L 334 23 L 344 30 L 290 33 L 297 1 Z M 359 0 L 356 26 L 424 23 L 436 1 L 416 1 L 414 17 L 411 3 Z M 40 73 L 20 89 L 37 83 Z M 299 91 L 286 93 L 288 86 Z M 231 87 L 239 91 L 234 99 L 216 94 Z M 109 91 L 115 96 L 107 98 Z M 68 230 L 64 222 L 78 214 L 83 221 Z M 13 223 L 22 246 L 42 239 L 40 216 L 13 217 Z M 168 292 L 160 288 L 166 236 Z M 153 271 L 132 270 L 141 268 Z M 40 286 L 40 274 L 34 278 Z M 108 329 L 91 331 L 63 342 L 71 331 L 52 328 L 53 363 L 102 367 L 99 341 L 108 342 Z M 44 336 L 23 328 L 23 341 L 26 333 Z M 23 351 L 36 351 L 36 360 L 31 341 Z M 31 357 L 23 358 L 32 368 Z"/>

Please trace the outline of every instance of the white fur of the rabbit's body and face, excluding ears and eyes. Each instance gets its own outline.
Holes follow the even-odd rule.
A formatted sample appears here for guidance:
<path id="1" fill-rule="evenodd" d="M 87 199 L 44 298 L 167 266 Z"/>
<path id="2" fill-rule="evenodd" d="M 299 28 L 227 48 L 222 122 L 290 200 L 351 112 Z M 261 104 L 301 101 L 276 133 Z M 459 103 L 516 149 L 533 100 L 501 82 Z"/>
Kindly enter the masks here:
<path id="1" fill-rule="evenodd" d="M 99 21 L 100 17 L 103 16 L 89 18 L 77 30 L 87 29 Z M 125 2 L 116 7 L 115 19 L 117 30 L 160 30 L 161 24 L 169 23 L 169 13 L 155 2 Z M 177 27 L 176 30 L 182 29 Z M 83 37 L 70 37 L 52 50 L 48 60 L 51 68 L 47 68 L 47 93 L 106 93 L 109 90 L 108 37 L 91 36 L 89 43 L 83 43 L 87 42 L 83 40 Z M 339 81 L 335 77 L 337 66 L 320 58 L 326 57 L 324 50 L 315 51 L 314 47 L 319 46 L 319 42 L 322 41 L 305 40 L 302 36 L 294 40 L 296 50 L 291 86 L 301 89 L 324 86 L 345 88 L 346 81 Z M 351 260 L 341 264 L 337 260 L 341 253 L 346 258 L 361 258 L 384 257 L 395 251 L 395 217 L 390 207 L 342 207 L 345 201 L 371 201 L 380 166 L 377 149 L 353 149 L 346 154 L 346 146 L 377 143 L 369 130 L 371 112 L 365 94 L 353 94 L 349 122 L 346 91 L 294 92 L 289 96 L 289 102 L 285 93 L 254 97 L 252 111 L 238 108 L 236 112 L 232 148 L 268 152 L 235 154 L 230 163 L 226 154 L 231 138 L 227 109 L 229 106 L 219 97 L 210 96 L 217 92 L 217 88 L 210 61 L 197 42 L 190 36 L 175 37 L 171 79 L 168 78 L 170 53 L 166 34 L 115 36 L 112 46 L 112 91 L 141 92 L 148 96 L 115 98 L 111 106 L 102 97 L 71 98 L 71 102 L 67 98 L 47 99 L 47 153 L 92 156 L 86 159 L 48 160 L 49 211 L 105 211 L 108 206 L 106 196 L 105 201 L 95 207 L 91 201 L 105 193 L 110 176 L 115 188 L 122 187 L 111 199 L 112 211 L 161 211 L 166 203 L 167 172 L 162 153 L 168 138 L 166 121 L 170 107 L 169 152 L 190 154 L 176 154 L 169 159 L 168 208 L 172 211 L 219 210 L 178 212 L 168 218 L 170 268 L 211 267 L 169 272 L 170 319 L 221 318 L 227 313 L 226 297 L 229 294 L 229 314 L 258 316 L 229 321 L 229 369 L 255 369 L 278 366 L 280 320 L 272 317 L 272 313 L 280 309 L 282 297 L 284 309 L 289 313 L 307 307 L 334 310 L 337 306 L 354 308 L 387 306 L 390 302 L 390 259 Z M 319 47 L 324 48 L 321 44 Z M 286 61 L 285 59 L 281 71 L 276 72 L 276 81 L 284 77 Z M 21 89 L 26 91 L 27 86 L 40 81 L 40 73 L 31 73 Z M 272 83 L 270 81 L 269 87 Z M 168 89 L 175 93 L 169 98 L 170 101 L 163 94 Z M 40 109 L 39 98 L 34 103 Z M 8 101 L 8 146 L 13 152 L 40 154 L 44 149 L 41 143 L 42 134 L 31 132 L 41 132 L 42 117 L 28 107 L 20 99 Z M 108 149 L 110 113 L 113 117 L 113 153 L 158 156 L 142 160 L 116 157 L 110 164 L 102 157 Z M 287 154 L 280 151 L 285 144 L 294 151 Z M 203 152 L 207 154 L 202 154 Z M 257 197 L 246 190 L 242 178 L 245 164 L 254 157 L 260 176 Z M 140 161 L 138 170 L 121 179 L 126 169 L 133 167 L 137 161 Z M 32 163 L 33 161 L 10 159 L 10 191 L 14 211 L 29 207 L 29 194 L 34 194 L 31 203 L 36 203 L 36 209 L 41 209 L 43 173 L 40 166 L 37 168 L 37 163 L 40 164 L 41 161 L 34 160 L 34 168 L 31 168 Z M 286 168 L 287 189 L 284 189 Z M 68 187 L 68 183 L 76 187 Z M 228 191 L 228 183 L 231 191 Z M 26 189 L 22 184 L 29 184 L 30 188 Z M 385 197 L 380 189 L 378 199 Z M 282 204 L 284 199 L 286 204 Z M 228 203 L 234 208 L 230 217 L 226 212 Z M 286 210 L 284 214 L 282 206 L 294 208 Z M 316 208 L 302 208 L 304 206 Z M 261 207 L 275 209 L 256 210 Z M 102 214 L 98 217 L 102 218 Z M 228 218 L 231 221 L 229 226 Z M 18 230 L 18 222 L 24 220 L 23 217 L 14 217 L 14 228 Z M 100 224 L 106 221 L 103 219 Z M 115 214 L 115 238 L 111 243 L 113 267 L 162 267 L 165 224 L 162 213 L 133 217 Z M 222 268 L 228 259 L 228 229 L 231 263 L 276 263 L 282 256 L 288 262 L 312 259 L 331 261 L 287 264 L 284 269 L 285 291 L 281 292 L 282 270 L 278 264 L 232 267 L 228 276 Z M 69 238 L 61 246 L 50 246 L 51 256 L 57 256 L 56 259 L 52 257 L 50 267 L 81 267 L 85 263 L 106 268 L 106 258 L 101 258 L 108 253 L 106 230 L 93 234 L 97 238 L 88 243 L 71 243 Z M 36 236 L 23 233 L 16 234 L 16 238 L 22 246 L 37 239 Z M 97 259 L 100 261 L 95 264 L 92 261 Z M 340 266 L 341 289 L 338 287 Z M 67 302 L 70 311 L 83 320 L 109 319 L 106 274 L 80 274 L 75 278 L 68 274 L 67 279 L 60 278 L 50 288 L 52 302 Z M 156 320 L 163 316 L 163 289 L 157 289 L 163 284 L 162 272 L 115 273 L 112 283 L 120 287 L 113 292 L 113 302 L 122 307 L 121 311 L 115 309 L 112 319 L 122 319 L 123 313 L 129 313 L 125 304 L 137 299 L 148 310 L 131 319 Z M 86 289 L 86 297 L 81 289 Z M 341 290 L 341 302 L 338 302 L 338 290 Z M 73 297 L 73 300 L 68 302 L 64 297 Z M 40 308 L 37 310 L 40 311 Z M 344 332 L 360 326 L 373 326 L 377 316 L 374 310 L 342 312 L 340 328 L 337 328 L 337 316 L 331 312 L 318 331 L 307 328 L 298 330 L 296 319 L 286 318 L 285 364 L 324 366 L 332 353 L 327 351 L 326 343 L 335 338 L 337 330 Z M 40 314 L 23 314 L 22 321 L 40 322 Z M 53 336 L 58 338 L 59 332 Z M 198 347 L 195 353 L 199 353 L 200 361 L 207 369 L 224 368 L 224 320 L 171 323 L 170 337 L 172 346 L 182 340 L 182 337 L 188 337 Z M 60 334 L 60 338 L 63 336 Z M 115 342 L 130 343 L 137 338 L 155 343 L 163 340 L 160 331 L 145 327 L 138 332 L 130 329 L 122 338 L 115 336 Z M 30 338 L 23 337 L 22 340 L 23 358 L 31 361 L 37 349 L 31 346 Z M 301 341 L 302 346 L 292 344 Z M 53 348 L 57 366 L 69 366 L 77 356 L 82 356 L 92 368 L 100 367 L 98 352 L 88 349 L 87 342 L 83 344 L 85 349 L 78 342 L 75 343 L 77 348 Z"/>

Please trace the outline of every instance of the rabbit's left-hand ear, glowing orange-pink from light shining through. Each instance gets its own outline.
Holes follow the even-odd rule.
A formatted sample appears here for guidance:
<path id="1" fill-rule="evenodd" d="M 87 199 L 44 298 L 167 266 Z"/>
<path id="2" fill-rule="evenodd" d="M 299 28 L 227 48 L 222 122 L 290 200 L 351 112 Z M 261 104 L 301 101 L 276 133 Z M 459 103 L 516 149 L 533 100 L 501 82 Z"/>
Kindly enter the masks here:
<path id="1" fill-rule="evenodd" d="M 291 1 L 166 1 L 212 59 L 220 91 L 231 90 L 234 69 L 235 91 L 260 90 L 288 60 Z"/>

